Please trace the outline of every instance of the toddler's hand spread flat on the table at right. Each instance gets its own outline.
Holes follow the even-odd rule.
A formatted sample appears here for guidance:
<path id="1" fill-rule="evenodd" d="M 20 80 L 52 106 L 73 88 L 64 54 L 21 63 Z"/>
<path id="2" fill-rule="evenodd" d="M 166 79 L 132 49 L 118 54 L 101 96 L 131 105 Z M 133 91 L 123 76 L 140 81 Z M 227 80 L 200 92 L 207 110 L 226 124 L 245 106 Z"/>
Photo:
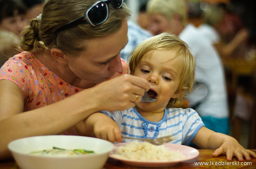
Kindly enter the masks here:
<path id="1" fill-rule="evenodd" d="M 239 161 L 243 161 L 243 157 L 249 161 L 251 160 L 250 156 L 256 158 L 256 154 L 250 150 L 244 149 L 235 138 L 227 137 L 226 141 L 216 149 L 212 154 L 213 157 L 217 157 L 221 154 L 227 156 L 227 160 L 231 161 L 232 157 L 235 156 Z"/>

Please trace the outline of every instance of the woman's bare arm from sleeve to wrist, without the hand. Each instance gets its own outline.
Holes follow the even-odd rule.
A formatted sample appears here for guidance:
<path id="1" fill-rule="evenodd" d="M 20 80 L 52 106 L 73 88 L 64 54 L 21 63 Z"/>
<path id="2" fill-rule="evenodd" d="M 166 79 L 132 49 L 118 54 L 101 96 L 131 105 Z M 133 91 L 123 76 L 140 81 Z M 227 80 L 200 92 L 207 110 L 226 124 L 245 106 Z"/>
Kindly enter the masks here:
<path id="1" fill-rule="evenodd" d="M 24 97 L 20 88 L 12 81 L 1 80 L 0 159 L 11 157 L 7 145 L 15 139 L 60 134 L 94 113 L 97 102 L 94 102 L 91 90 L 85 90 L 83 94 L 73 95 L 43 108 L 23 112 Z M 87 97 L 83 95 L 92 99 L 85 99 Z"/>

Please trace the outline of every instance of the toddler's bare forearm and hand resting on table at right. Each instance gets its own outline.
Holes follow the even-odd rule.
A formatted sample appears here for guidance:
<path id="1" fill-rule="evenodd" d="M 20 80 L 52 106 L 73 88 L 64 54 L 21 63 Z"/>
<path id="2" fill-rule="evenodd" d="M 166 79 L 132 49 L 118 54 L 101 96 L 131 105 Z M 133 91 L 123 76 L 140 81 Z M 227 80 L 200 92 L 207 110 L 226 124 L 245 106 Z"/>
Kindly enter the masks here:
<path id="1" fill-rule="evenodd" d="M 239 161 L 251 160 L 250 155 L 256 158 L 256 154 L 250 150 L 244 149 L 235 138 L 226 134 L 216 133 L 206 127 L 201 127 L 195 138 L 192 140 L 194 144 L 202 149 L 216 149 L 212 154 L 213 157 L 226 154 L 227 160 L 232 160 L 235 156 Z"/>

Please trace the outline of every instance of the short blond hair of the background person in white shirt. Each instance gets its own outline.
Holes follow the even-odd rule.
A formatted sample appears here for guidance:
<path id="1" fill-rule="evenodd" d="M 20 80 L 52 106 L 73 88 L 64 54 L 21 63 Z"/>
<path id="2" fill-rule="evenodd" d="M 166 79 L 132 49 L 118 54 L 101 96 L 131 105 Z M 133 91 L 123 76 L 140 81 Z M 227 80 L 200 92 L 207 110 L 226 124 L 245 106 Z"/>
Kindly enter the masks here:
<path id="1" fill-rule="evenodd" d="M 149 0 L 147 3 L 148 14 L 161 14 L 167 19 L 173 19 L 175 14 L 180 17 L 180 22 L 187 22 L 187 6 L 183 0 Z"/>

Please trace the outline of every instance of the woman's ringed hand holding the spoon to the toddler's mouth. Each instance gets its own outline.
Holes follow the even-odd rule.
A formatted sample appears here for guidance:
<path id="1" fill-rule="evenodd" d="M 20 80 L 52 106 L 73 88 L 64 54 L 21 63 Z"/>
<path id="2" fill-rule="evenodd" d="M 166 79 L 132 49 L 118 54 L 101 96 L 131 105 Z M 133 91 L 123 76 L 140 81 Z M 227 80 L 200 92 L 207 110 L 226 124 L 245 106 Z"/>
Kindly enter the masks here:
<path id="1" fill-rule="evenodd" d="M 142 78 L 132 75 L 122 75 L 100 83 L 93 88 L 95 102 L 100 110 L 117 111 L 135 106 L 140 102 L 145 91 L 149 90 L 149 83 Z M 137 96 L 138 95 L 138 99 Z"/>

